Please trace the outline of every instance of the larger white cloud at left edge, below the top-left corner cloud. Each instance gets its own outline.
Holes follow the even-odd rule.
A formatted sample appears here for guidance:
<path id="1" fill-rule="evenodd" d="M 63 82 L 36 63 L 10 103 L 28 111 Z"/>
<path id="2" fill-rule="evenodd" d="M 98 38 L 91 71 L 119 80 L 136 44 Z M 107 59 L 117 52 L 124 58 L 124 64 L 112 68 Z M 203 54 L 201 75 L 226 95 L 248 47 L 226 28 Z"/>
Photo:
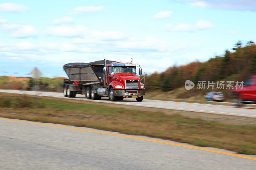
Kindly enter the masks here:
<path id="1" fill-rule="evenodd" d="M 36 28 L 30 25 L 3 24 L 0 26 L 0 30 L 5 31 L 6 33 L 11 33 L 12 37 L 15 38 L 34 37 L 38 34 Z"/>

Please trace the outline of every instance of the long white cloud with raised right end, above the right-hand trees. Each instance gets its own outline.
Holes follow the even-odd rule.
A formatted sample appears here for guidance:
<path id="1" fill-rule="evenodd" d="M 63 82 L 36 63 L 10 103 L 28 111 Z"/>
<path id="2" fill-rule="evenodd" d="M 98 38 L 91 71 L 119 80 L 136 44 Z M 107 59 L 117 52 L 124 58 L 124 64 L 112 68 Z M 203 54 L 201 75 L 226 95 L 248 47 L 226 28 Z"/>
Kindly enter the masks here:
<path id="1" fill-rule="evenodd" d="M 213 25 L 211 22 L 204 21 L 203 19 L 199 19 L 195 25 L 187 24 L 187 23 L 182 23 L 177 26 L 172 26 L 172 24 L 166 24 L 164 27 L 165 31 L 196 31 L 196 30 L 204 30 L 204 29 L 209 29 L 212 28 Z"/>

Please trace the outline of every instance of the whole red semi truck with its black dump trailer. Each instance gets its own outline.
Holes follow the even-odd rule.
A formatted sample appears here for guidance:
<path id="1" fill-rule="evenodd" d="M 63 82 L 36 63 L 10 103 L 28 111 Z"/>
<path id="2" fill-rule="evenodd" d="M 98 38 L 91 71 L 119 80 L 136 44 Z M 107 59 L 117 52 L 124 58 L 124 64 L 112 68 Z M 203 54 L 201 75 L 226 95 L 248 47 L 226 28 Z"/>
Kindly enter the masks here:
<path id="1" fill-rule="evenodd" d="M 85 94 L 87 99 L 100 100 L 107 96 L 111 101 L 136 98 L 142 101 L 145 88 L 136 73 L 142 74 L 140 66 L 132 63 L 118 63 L 104 60 L 91 63 L 68 63 L 63 66 L 69 79 L 64 80 L 65 97 Z"/>

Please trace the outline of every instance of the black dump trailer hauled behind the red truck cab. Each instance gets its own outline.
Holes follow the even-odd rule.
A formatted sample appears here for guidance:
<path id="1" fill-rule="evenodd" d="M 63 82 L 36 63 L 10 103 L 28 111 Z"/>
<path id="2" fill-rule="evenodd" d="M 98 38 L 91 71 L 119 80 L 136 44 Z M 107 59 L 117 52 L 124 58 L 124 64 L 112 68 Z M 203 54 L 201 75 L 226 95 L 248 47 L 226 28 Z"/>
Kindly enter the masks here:
<path id="1" fill-rule="evenodd" d="M 106 60 L 106 64 L 115 61 Z M 105 61 L 99 60 L 91 63 L 68 63 L 63 66 L 63 70 L 68 75 L 64 79 L 63 93 L 65 97 L 76 97 L 76 94 L 85 94 L 87 87 L 92 85 L 104 86 L 105 76 L 103 73 Z M 100 99 L 101 97 L 98 96 Z"/>

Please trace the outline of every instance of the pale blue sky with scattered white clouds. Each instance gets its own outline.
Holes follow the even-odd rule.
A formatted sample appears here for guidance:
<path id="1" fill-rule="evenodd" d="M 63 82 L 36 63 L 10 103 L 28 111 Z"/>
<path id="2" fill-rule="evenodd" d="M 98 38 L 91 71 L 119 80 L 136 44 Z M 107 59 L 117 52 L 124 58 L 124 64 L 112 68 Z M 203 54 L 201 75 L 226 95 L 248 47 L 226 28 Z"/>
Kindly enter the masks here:
<path id="1" fill-rule="evenodd" d="M 0 76 L 66 77 L 63 65 L 139 63 L 148 74 L 256 41 L 254 0 L 0 1 Z"/>

